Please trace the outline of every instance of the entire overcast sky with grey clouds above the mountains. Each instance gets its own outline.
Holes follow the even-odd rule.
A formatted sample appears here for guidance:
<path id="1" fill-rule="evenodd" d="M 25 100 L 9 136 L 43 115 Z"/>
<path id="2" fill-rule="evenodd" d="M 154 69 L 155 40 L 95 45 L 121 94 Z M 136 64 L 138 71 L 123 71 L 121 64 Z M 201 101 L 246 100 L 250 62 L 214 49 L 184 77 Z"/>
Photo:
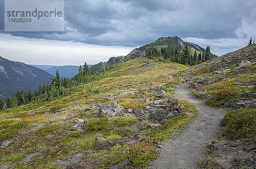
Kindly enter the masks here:
<path id="1" fill-rule="evenodd" d="M 219 56 L 256 40 L 256 0 L 65 0 L 64 32 L 4 32 L 0 11 L 0 56 L 31 64 L 94 64 L 166 36 Z"/>

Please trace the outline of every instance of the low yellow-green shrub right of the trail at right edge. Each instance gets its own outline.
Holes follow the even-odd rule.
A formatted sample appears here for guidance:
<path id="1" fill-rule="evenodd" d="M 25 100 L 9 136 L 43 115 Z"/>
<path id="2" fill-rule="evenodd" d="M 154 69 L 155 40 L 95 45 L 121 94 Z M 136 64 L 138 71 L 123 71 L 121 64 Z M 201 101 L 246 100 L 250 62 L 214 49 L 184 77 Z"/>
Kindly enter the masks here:
<path id="1" fill-rule="evenodd" d="M 230 140 L 248 138 L 256 142 L 256 109 L 235 109 L 221 120 L 224 135 Z"/>

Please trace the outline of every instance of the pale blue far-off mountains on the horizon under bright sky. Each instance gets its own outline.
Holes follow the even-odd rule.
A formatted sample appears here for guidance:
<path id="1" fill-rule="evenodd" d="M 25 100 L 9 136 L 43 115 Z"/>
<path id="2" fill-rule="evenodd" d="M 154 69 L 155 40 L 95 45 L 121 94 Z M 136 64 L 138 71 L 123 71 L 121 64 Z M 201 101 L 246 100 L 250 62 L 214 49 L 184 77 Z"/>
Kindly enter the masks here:
<path id="1" fill-rule="evenodd" d="M 63 77 L 74 77 L 76 74 L 78 74 L 79 66 L 54 66 L 54 65 L 31 65 L 35 66 L 39 69 L 45 70 L 49 74 L 52 74 L 55 76 L 57 70 L 60 74 L 60 76 Z M 88 65 L 89 67 L 92 65 Z"/>

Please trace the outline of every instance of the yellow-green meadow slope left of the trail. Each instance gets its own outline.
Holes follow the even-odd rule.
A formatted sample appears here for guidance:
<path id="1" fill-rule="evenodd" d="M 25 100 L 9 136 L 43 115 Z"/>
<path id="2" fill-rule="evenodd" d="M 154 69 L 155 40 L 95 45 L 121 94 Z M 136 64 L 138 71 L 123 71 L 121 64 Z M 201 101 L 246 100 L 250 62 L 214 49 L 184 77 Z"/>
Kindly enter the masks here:
<path id="1" fill-rule="evenodd" d="M 149 62 L 151 66 L 148 66 Z M 154 120 L 147 117 L 138 120 L 125 113 L 113 118 L 98 118 L 96 112 L 99 107 L 87 109 L 87 106 L 93 103 L 108 104 L 115 100 L 125 109 L 140 110 L 152 104 L 148 101 L 155 99 L 150 94 L 152 86 L 179 83 L 177 80 L 170 81 L 170 74 L 184 68 L 186 66 L 177 63 L 137 57 L 106 71 L 93 83 L 70 89 L 65 96 L 1 111 L 0 141 L 9 140 L 11 143 L 1 149 L 0 165 L 13 163 L 15 169 L 58 169 L 61 166 L 56 161 L 65 161 L 81 153 L 84 155 L 81 161 L 88 166 L 108 168 L 128 159 L 128 168 L 144 168 L 157 157 L 155 141 L 174 138 L 173 132 L 181 133 L 197 116 L 195 107 L 181 100 L 186 107 L 185 112 L 193 116 L 186 116 L 184 112 L 155 129 L 145 126 L 140 131 L 138 126 L 145 122 L 154 123 Z M 174 88 L 167 87 L 165 90 L 170 95 Z M 84 122 L 77 122 L 78 119 Z M 122 143 L 110 149 L 99 149 L 95 142 L 95 137 L 112 140 L 138 132 L 145 137 L 136 144 Z M 18 162 L 31 154 L 36 154 L 32 161 Z M 5 160 L 8 157 L 15 159 L 15 155 L 19 157 L 17 160 Z"/>

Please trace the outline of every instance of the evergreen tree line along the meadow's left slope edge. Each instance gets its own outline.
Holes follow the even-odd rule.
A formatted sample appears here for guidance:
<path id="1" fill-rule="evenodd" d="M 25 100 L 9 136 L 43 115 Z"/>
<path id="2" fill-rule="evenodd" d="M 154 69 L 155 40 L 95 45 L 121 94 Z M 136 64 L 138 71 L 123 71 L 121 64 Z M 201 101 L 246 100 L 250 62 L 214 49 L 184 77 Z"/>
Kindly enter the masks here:
<path id="1" fill-rule="evenodd" d="M 94 68 L 89 68 L 87 63 L 84 63 L 84 66 L 80 65 L 79 73 L 72 78 L 60 78 L 57 70 L 56 77 L 50 77 L 50 83 L 47 82 L 47 84 L 43 84 L 42 86 L 39 85 L 38 89 L 34 92 L 31 92 L 30 89 L 28 92 L 19 89 L 12 97 L 6 96 L 4 99 L 0 99 L 0 110 L 20 106 L 41 99 L 52 100 L 59 95 L 65 95 L 68 89 L 91 82 L 96 79 L 96 77 L 104 74 L 105 70 L 106 69 L 96 70 Z"/>

